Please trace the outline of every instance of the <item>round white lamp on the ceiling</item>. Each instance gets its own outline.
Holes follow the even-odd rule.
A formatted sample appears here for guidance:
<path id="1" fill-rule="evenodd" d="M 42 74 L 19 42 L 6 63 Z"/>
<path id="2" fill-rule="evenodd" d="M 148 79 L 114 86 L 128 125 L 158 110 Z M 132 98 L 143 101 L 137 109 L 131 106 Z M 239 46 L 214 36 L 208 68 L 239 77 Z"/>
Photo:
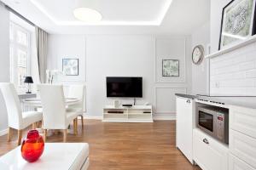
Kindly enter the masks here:
<path id="1" fill-rule="evenodd" d="M 98 3 L 96 0 L 77 0 L 73 15 L 78 20 L 87 23 L 97 23 L 102 20 L 102 14 L 96 10 L 97 7 Z"/>

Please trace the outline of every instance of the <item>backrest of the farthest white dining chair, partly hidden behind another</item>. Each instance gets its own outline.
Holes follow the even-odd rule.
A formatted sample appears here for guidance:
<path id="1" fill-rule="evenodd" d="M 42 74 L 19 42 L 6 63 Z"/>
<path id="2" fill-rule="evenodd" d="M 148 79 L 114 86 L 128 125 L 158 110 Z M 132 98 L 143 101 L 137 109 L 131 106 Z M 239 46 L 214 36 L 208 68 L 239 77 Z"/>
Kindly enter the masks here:
<path id="1" fill-rule="evenodd" d="M 68 87 L 68 95 L 67 98 L 75 98 L 79 99 L 79 104 L 76 105 L 70 105 L 70 107 L 79 107 L 82 109 L 82 111 L 85 110 L 84 105 L 84 84 L 81 85 L 70 85 Z"/>

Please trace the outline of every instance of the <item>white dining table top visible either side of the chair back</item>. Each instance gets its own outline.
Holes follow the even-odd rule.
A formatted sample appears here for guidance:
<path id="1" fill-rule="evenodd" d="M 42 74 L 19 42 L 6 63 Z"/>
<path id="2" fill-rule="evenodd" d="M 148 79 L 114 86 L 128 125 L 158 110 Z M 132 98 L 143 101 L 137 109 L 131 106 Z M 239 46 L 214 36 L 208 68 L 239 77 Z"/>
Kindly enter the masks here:
<path id="1" fill-rule="evenodd" d="M 66 105 L 76 105 L 80 102 L 79 99 L 74 99 L 74 98 L 66 98 L 65 99 Z M 42 107 L 42 101 L 40 98 L 27 98 L 23 99 L 23 104 L 28 105 L 31 107 Z"/>

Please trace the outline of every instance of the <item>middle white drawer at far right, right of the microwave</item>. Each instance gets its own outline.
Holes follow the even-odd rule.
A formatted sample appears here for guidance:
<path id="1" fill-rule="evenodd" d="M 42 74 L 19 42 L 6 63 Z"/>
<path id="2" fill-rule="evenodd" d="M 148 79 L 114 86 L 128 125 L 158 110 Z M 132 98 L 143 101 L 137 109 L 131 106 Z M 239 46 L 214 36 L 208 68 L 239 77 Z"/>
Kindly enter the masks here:
<path id="1" fill-rule="evenodd" d="M 256 168 L 256 139 L 230 130 L 230 152 Z"/>

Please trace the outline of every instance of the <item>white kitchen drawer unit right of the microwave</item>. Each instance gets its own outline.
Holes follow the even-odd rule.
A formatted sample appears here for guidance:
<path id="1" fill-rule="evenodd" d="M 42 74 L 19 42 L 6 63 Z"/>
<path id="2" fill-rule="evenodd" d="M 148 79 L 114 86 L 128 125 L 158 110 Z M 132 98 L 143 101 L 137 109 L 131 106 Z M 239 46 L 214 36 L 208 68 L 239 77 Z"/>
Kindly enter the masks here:
<path id="1" fill-rule="evenodd" d="M 255 109 L 230 106 L 230 154 L 237 157 L 235 164 L 245 162 L 242 169 L 256 169 Z"/>

